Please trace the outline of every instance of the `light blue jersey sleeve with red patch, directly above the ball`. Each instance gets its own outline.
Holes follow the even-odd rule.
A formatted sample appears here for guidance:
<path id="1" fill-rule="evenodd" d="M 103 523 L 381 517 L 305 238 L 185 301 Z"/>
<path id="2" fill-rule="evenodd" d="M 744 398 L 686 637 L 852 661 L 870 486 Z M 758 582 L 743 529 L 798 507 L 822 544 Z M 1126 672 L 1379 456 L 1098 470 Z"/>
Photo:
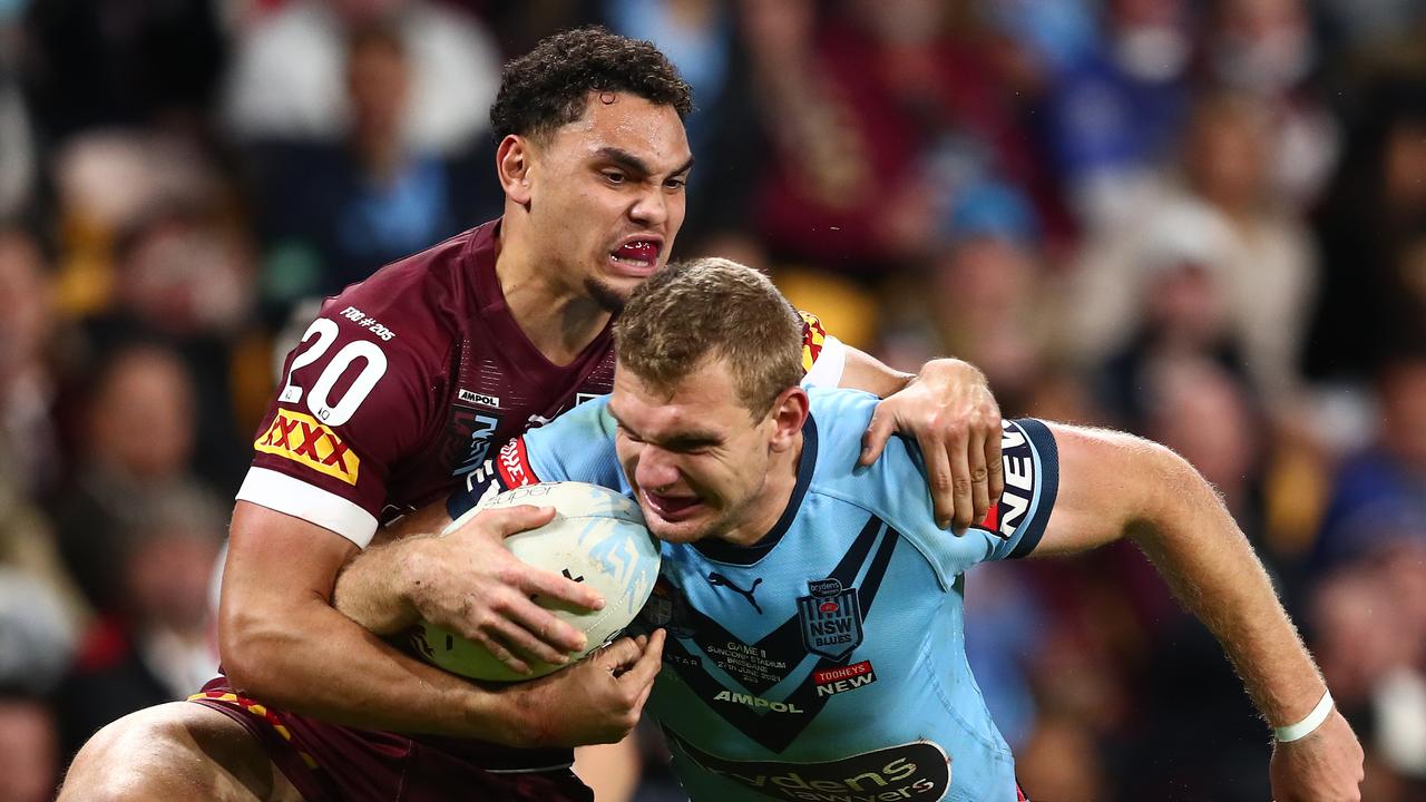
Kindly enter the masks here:
<path id="1" fill-rule="evenodd" d="M 586 401 L 549 425 L 506 442 L 495 460 L 472 471 L 465 488 L 446 499 L 451 519 L 461 521 L 488 497 L 538 482 L 576 481 L 629 492 L 607 408 L 607 395 Z"/>

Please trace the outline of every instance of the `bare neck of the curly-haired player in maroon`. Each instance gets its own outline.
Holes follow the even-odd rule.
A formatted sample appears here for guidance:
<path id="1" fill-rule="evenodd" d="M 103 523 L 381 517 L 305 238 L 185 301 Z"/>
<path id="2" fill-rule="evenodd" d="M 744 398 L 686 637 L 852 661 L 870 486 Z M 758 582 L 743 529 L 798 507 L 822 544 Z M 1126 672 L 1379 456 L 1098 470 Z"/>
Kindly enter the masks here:
<path id="1" fill-rule="evenodd" d="M 563 287 L 523 245 L 501 233 L 495 275 L 511 317 L 525 337 L 556 365 L 579 358 L 609 324 L 612 313 L 575 287 Z"/>

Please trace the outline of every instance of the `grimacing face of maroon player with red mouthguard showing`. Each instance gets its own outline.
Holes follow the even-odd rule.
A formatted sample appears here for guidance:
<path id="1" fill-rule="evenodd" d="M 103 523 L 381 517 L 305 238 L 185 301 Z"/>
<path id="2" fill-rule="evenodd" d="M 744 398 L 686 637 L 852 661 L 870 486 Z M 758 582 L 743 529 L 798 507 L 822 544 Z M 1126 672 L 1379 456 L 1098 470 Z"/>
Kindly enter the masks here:
<path id="1" fill-rule="evenodd" d="M 672 106 L 590 93 L 585 116 L 536 150 L 530 214 L 546 261 L 605 305 L 622 307 L 669 261 L 692 166 Z"/>

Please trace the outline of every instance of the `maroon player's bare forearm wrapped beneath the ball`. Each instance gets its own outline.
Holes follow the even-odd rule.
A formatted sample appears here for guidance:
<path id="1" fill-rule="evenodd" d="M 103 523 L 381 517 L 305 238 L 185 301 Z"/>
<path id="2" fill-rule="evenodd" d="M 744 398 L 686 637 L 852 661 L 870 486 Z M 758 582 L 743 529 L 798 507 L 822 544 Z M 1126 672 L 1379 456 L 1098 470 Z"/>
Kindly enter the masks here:
<path id="1" fill-rule="evenodd" d="M 513 699 L 398 652 L 322 599 L 279 616 L 232 616 L 222 659 L 234 686 L 285 711 L 368 729 L 528 739 Z"/>

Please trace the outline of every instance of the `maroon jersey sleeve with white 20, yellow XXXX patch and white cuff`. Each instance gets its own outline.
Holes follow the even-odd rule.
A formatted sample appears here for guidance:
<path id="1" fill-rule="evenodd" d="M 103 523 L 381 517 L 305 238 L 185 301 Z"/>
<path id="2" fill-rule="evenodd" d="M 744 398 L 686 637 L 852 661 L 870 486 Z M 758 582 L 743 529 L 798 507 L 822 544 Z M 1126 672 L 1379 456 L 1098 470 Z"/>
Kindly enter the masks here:
<path id="1" fill-rule="evenodd" d="M 328 303 L 288 354 L 237 498 L 365 548 L 392 467 L 431 422 L 448 354 L 415 327 L 404 330 L 394 313 L 378 323 L 351 310 Z"/>

